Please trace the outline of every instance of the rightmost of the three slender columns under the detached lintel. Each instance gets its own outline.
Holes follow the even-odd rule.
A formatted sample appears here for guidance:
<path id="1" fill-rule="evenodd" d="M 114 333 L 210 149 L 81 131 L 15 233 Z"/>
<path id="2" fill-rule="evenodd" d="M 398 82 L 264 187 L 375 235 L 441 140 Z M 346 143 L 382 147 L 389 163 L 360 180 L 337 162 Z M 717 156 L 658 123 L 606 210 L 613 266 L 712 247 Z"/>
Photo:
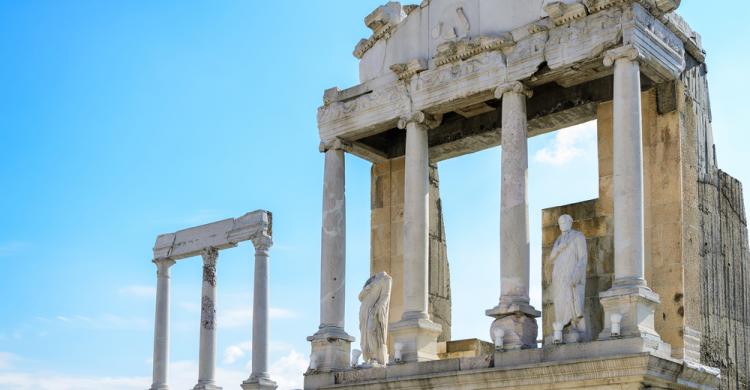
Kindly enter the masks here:
<path id="1" fill-rule="evenodd" d="M 268 250 L 271 237 L 253 238 L 255 246 L 255 281 L 253 285 L 253 370 L 242 383 L 243 390 L 273 390 L 276 382 L 268 375 Z"/>

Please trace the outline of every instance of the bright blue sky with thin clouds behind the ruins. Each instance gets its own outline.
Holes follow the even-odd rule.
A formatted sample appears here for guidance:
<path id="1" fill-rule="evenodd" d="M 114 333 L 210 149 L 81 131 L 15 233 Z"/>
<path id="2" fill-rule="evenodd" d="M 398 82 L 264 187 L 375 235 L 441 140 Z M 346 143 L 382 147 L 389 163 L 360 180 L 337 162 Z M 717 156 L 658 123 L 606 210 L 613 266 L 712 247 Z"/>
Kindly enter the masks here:
<path id="1" fill-rule="evenodd" d="M 274 212 L 271 363 L 301 386 L 318 325 L 323 159 L 316 110 L 357 83 L 381 1 L 0 0 L 0 388 L 150 385 L 157 234 Z M 724 170 L 742 145 L 750 27 L 739 1 L 686 0 L 709 51 Z M 530 141 L 532 294 L 540 210 L 595 198 L 592 124 Z M 440 164 L 454 338 L 488 338 L 499 293 L 500 150 Z M 347 158 L 347 330 L 369 268 L 369 163 Z M 252 247 L 218 266 L 219 381 L 250 370 Z M 172 277 L 173 388 L 197 380 L 199 259 Z M 484 272 L 477 272 L 477 271 Z"/>

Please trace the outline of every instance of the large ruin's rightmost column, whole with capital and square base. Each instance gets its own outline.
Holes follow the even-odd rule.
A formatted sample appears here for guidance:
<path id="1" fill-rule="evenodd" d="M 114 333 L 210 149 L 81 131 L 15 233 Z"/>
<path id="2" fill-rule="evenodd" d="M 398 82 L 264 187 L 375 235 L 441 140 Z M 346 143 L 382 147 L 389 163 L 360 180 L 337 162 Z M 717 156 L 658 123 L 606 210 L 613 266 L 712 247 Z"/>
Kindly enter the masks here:
<path id="1" fill-rule="evenodd" d="M 624 46 L 606 53 L 614 66 L 613 158 L 615 281 L 599 296 L 604 308 L 600 338 L 612 336 L 613 315 L 619 336 L 658 340 L 654 311 L 659 297 L 644 278 L 643 125 L 641 118 L 640 53 Z"/>

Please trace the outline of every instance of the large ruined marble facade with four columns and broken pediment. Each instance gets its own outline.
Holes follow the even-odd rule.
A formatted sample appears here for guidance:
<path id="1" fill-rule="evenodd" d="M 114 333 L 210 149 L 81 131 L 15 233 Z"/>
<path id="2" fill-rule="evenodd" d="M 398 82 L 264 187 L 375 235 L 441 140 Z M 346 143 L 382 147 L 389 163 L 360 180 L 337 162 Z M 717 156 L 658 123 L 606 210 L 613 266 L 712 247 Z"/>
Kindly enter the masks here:
<path id="1" fill-rule="evenodd" d="M 716 165 L 705 52 L 679 3 L 424 0 L 365 18 L 361 83 L 327 90 L 318 112 L 321 307 L 306 389 L 748 387 L 742 190 Z M 527 139 L 591 120 L 599 198 L 544 210 L 536 308 Z M 477 297 L 495 340 L 452 341 L 436 164 L 498 145 L 501 296 Z M 349 357 L 344 153 L 373 163 L 371 271 L 393 277 L 386 367 L 353 369 Z M 549 342 L 545 315 L 540 348 L 563 214 L 589 248 L 589 336 Z"/>

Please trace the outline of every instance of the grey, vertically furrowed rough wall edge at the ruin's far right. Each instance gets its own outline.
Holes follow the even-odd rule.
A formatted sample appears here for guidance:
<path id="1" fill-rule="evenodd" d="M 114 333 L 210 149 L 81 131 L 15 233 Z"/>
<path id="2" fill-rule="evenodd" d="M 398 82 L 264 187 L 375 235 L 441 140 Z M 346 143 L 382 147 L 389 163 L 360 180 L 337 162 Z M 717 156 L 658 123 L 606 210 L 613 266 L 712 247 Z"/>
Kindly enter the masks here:
<path id="1" fill-rule="evenodd" d="M 750 265 L 742 185 L 716 164 L 704 65 L 686 71 L 678 88 L 690 134 L 702 321 L 701 362 L 722 370 L 722 388 L 750 388 Z M 687 336 L 687 335 L 686 335 Z"/>

